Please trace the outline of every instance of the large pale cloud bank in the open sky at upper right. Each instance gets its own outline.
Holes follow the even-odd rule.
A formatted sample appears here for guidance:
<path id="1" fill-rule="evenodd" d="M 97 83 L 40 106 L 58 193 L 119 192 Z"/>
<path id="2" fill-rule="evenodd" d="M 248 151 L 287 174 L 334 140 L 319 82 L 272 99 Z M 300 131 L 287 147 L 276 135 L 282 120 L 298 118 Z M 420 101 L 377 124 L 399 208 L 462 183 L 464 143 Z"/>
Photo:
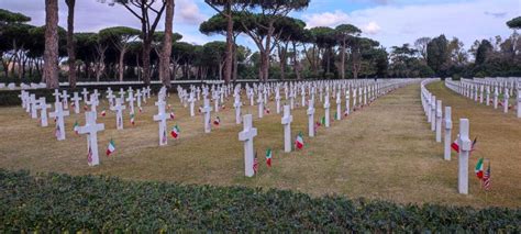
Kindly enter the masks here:
<path id="1" fill-rule="evenodd" d="M 395 2 L 395 1 L 392 1 Z M 309 27 L 350 23 L 365 36 L 390 47 L 422 36 L 458 37 L 469 47 L 475 40 L 509 36 L 505 22 L 519 15 L 518 0 L 474 0 L 439 3 L 386 4 L 351 12 L 341 10 L 303 14 Z M 484 13 L 487 12 L 487 13 Z"/>

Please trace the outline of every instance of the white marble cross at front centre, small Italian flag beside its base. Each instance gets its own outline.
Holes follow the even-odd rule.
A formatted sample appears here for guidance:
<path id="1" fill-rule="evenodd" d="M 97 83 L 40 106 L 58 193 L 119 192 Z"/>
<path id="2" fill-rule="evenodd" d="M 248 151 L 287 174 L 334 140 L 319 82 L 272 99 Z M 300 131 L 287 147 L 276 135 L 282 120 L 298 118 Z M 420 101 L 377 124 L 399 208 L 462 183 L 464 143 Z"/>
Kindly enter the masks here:
<path id="1" fill-rule="evenodd" d="M 254 164 L 254 147 L 253 138 L 257 135 L 257 129 L 253 127 L 252 114 L 243 116 L 244 130 L 239 133 L 239 141 L 244 142 L 244 174 L 247 177 L 253 177 L 255 171 Z"/>

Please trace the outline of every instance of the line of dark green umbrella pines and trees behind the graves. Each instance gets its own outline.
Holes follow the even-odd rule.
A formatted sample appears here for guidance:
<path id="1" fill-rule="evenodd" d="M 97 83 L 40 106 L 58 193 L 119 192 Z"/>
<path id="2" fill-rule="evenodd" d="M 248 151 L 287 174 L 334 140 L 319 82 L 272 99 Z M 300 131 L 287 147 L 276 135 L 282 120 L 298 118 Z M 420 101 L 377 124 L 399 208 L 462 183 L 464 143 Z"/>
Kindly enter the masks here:
<path id="1" fill-rule="evenodd" d="M 46 8 L 57 10 L 54 1 L 46 0 Z M 171 32 L 173 0 L 115 1 L 140 20 L 142 29 L 115 26 L 99 32 L 74 32 L 75 0 L 65 1 L 68 26 L 65 30 L 55 22 L 56 33 L 29 24 L 26 15 L 0 9 L 0 80 L 44 81 L 53 87 L 49 80 L 57 83 L 59 78 L 74 87 L 77 78 L 145 83 L 155 79 L 169 85 L 170 79 L 521 76 L 521 40 L 516 31 L 521 29 L 520 18 L 507 22 L 513 30 L 508 38 L 476 41 L 468 51 L 457 37 L 444 35 L 385 48 L 361 36 L 362 31 L 352 24 L 307 29 L 303 21 L 288 16 L 307 8 L 309 0 L 206 0 L 217 14 L 202 22 L 199 31 L 224 35 L 226 41 L 195 45 L 180 42 L 182 35 Z M 154 2 L 159 8 L 153 8 Z M 158 32 L 164 12 L 170 24 Z M 47 11 L 47 22 L 52 16 Z M 239 45 L 240 35 L 250 37 L 256 48 Z M 56 55 L 46 53 L 54 46 Z M 56 75 L 47 73 L 54 68 L 46 70 L 46 60 L 59 64 Z"/>

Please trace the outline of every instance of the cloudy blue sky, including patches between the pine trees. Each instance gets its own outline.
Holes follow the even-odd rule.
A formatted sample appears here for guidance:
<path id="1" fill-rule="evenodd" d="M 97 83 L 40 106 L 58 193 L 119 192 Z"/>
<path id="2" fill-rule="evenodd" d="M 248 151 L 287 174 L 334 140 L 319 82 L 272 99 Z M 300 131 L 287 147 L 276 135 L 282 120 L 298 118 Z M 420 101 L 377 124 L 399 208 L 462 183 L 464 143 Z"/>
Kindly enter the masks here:
<path id="1" fill-rule="evenodd" d="M 122 5 L 110 7 L 102 0 L 76 0 L 76 32 L 97 32 L 108 26 L 140 29 L 140 21 Z M 107 0 L 109 1 L 109 0 Z M 43 25 L 45 0 L 0 0 L 0 8 L 32 18 L 31 24 Z M 203 0 L 176 0 L 174 31 L 184 42 L 204 44 L 223 36 L 207 36 L 199 24 L 215 11 Z M 475 40 L 496 35 L 508 37 L 512 30 L 506 22 L 521 15 L 521 0 L 311 0 L 310 5 L 290 16 L 303 20 L 307 27 L 353 24 L 363 36 L 380 42 L 387 48 L 413 42 L 423 36 L 444 34 L 458 37 L 468 48 Z M 67 7 L 59 0 L 59 25 L 66 27 Z M 158 25 L 163 30 L 163 23 Z M 255 44 L 242 36 L 240 44 L 253 51 Z"/>

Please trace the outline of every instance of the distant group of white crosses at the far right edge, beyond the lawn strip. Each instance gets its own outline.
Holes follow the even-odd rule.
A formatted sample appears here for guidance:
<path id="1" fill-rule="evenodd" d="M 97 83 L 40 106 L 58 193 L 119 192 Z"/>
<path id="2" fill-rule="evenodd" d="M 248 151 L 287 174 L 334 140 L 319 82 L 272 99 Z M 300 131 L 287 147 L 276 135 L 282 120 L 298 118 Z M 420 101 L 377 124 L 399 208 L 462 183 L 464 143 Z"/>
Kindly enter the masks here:
<path id="1" fill-rule="evenodd" d="M 518 109 L 517 115 L 521 118 L 521 79 L 520 78 L 495 78 L 495 79 L 463 79 L 454 81 L 452 79 L 445 80 L 445 86 L 453 91 L 467 97 L 475 102 L 490 105 L 498 109 L 499 103 L 502 105 L 503 113 L 509 111 L 510 97 L 517 97 L 516 107 Z M 491 93 L 494 91 L 494 93 Z M 503 94 L 503 100 L 499 100 L 499 94 Z M 492 100 L 490 96 L 492 94 Z"/>

